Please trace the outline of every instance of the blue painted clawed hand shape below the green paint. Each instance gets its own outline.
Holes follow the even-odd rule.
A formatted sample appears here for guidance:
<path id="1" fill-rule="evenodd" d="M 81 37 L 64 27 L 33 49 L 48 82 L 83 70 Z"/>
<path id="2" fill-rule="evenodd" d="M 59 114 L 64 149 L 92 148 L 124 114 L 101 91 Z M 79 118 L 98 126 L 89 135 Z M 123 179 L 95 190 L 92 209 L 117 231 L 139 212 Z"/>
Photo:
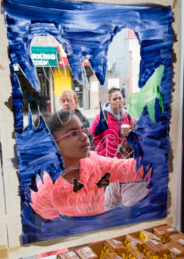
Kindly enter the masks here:
<path id="1" fill-rule="evenodd" d="M 168 128 L 169 124 L 163 121 L 152 122 L 148 107 L 144 107 L 135 128 L 127 137 L 128 144 L 135 150 L 136 171 L 143 166 L 145 175 L 151 166 L 155 176 L 157 174 L 155 171 L 163 170 L 163 164 L 168 165 Z M 164 168 L 165 172 L 167 170 L 168 168 Z"/>

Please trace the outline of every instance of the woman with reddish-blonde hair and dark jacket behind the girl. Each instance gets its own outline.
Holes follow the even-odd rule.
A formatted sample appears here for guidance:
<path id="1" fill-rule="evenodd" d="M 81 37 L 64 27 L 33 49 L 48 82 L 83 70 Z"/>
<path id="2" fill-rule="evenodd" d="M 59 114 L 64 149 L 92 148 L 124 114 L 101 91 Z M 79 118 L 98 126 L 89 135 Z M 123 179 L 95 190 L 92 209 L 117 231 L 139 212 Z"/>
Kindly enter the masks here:
<path id="1" fill-rule="evenodd" d="M 73 90 L 65 90 L 61 93 L 60 95 L 60 102 L 62 105 L 63 110 L 71 110 L 71 112 L 75 113 L 78 117 L 82 117 L 82 124 L 84 128 L 90 128 L 90 123 L 86 116 L 84 116 L 79 108 L 79 103 L 77 99 L 77 95 L 75 91 Z M 71 108 L 70 108 L 71 106 Z M 94 141 L 93 141 L 93 136 L 90 134 L 89 136 L 90 139 L 90 150 L 94 151 Z"/>

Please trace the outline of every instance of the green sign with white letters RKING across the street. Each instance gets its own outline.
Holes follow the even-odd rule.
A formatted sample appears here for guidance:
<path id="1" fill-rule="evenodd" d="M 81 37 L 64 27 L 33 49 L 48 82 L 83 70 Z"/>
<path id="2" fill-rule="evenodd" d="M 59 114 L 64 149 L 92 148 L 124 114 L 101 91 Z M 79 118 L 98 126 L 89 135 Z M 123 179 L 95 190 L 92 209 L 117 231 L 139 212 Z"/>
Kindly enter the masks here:
<path id="1" fill-rule="evenodd" d="M 56 47 L 39 47 L 32 46 L 32 61 L 36 67 L 57 67 L 57 61 L 59 63 L 59 52 Z"/>

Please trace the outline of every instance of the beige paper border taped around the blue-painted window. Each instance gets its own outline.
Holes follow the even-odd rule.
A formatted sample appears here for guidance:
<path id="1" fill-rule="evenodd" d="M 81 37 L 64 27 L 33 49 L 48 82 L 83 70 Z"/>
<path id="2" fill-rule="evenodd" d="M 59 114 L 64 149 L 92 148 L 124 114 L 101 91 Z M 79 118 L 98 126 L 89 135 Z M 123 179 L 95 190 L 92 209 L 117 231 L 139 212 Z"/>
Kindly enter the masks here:
<path id="1" fill-rule="evenodd" d="M 86 2 L 86 1 L 85 1 Z M 98 2 L 98 1 L 89 1 Z M 121 0 L 113 1 L 100 1 L 102 3 L 122 4 Z M 124 1 L 123 4 L 136 4 L 144 5 L 151 4 L 153 1 Z M 160 1 L 154 1 L 154 4 L 160 4 Z M 7 207 L 7 225 L 9 237 L 9 258 L 21 258 L 31 256 L 38 253 L 48 252 L 56 249 L 71 247 L 74 245 L 81 245 L 100 241 L 105 238 L 114 238 L 114 236 L 138 231 L 149 226 L 158 226 L 159 224 L 167 222 L 169 225 L 175 225 L 175 203 L 176 203 L 176 186 L 177 178 L 177 162 L 178 162 L 178 116 L 179 116 L 179 87 L 180 83 L 180 50 L 181 50 L 181 0 L 178 1 L 162 1 L 163 6 L 173 7 L 174 22 L 173 29 L 177 35 L 177 42 L 174 43 L 173 49 L 176 54 L 176 63 L 174 63 L 174 83 L 175 91 L 173 93 L 173 102 L 171 104 L 171 125 L 170 125 L 170 149 L 173 150 L 170 154 L 170 170 L 169 170 L 169 194 L 168 194 L 168 216 L 167 219 L 148 221 L 142 223 L 135 223 L 125 226 L 114 227 L 106 230 L 98 230 L 92 233 L 78 234 L 75 236 L 68 236 L 67 238 L 58 238 L 39 242 L 32 245 L 21 245 L 21 217 L 20 217 L 20 197 L 18 196 L 18 179 L 16 169 L 13 167 L 12 158 L 14 157 L 13 145 L 15 140 L 12 138 L 13 128 L 13 114 L 10 109 L 5 106 L 11 96 L 10 84 L 10 70 L 9 60 L 7 54 L 7 36 L 6 27 L 4 23 L 4 15 L 1 14 L 1 76 L 0 76 L 0 127 L 2 137 L 2 153 L 3 153 L 3 166 L 5 175 L 5 191 L 6 191 L 6 207 Z M 11 105 L 9 104 L 11 108 Z M 10 177 L 11 175 L 11 177 Z M 171 195 L 170 195 L 171 194 Z M 172 198 L 171 198 L 172 197 Z M 2 221 L 3 222 L 3 221 Z M 5 220 L 4 220 L 5 222 Z M 148 230 L 149 231 L 149 230 Z M 4 239 L 6 240 L 6 238 Z M 121 240 L 120 240 L 121 241 Z M 7 243 L 5 244 L 7 245 Z M 95 252 L 95 251 L 94 251 Z M 96 253 L 96 252 L 95 252 Z"/>

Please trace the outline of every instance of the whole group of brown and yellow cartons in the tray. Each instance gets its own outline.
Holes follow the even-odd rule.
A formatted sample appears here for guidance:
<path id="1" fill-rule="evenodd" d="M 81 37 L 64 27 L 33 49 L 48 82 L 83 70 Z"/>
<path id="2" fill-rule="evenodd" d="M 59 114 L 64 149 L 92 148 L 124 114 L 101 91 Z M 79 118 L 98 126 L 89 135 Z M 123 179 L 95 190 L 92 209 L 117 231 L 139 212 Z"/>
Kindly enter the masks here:
<path id="1" fill-rule="evenodd" d="M 184 235 L 168 225 L 101 243 L 57 255 L 57 259 L 184 259 Z"/>

